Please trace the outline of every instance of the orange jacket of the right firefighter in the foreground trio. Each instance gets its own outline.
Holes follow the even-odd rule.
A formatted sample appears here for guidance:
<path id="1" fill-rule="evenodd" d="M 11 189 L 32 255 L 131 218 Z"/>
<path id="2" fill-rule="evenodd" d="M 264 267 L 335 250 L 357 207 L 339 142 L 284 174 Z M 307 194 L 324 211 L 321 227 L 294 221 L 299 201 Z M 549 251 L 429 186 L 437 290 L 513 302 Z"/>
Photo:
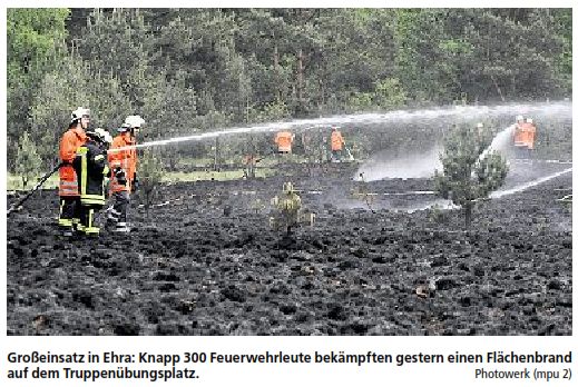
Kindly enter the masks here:
<path id="1" fill-rule="evenodd" d="M 115 170 L 120 167 L 125 171 L 126 185 L 118 182 L 115 173 L 110 177 L 110 192 L 130 192 L 133 181 L 135 180 L 135 173 L 137 170 L 137 150 L 135 147 L 135 139 L 128 133 L 121 133 L 115 137 L 110 150 L 108 151 L 108 165 L 110 170 Z M 127 148 L 133 147 L 133 148 Z M 127 148 L 127 149 L 123 149 Z M 115 149 L 121 149 L 115 151 Z"/>

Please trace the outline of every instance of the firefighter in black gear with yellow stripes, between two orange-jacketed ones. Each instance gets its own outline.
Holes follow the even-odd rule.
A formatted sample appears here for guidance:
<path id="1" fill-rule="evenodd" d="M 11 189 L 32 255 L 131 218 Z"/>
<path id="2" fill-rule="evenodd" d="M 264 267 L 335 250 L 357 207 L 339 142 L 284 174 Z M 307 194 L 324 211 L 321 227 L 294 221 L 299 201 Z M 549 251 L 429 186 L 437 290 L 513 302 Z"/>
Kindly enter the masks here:
<path id="1" fill-rule="evenodd" d="M 112 137 L 105 129 L 87 131 L 87 142 L 78 148 L 72 166 L 78 176 L 80 191 L 80 222 L 78 231 L 97 236 L 95 211 L 105 206 L 105 177 L 110 176 L 106 153 Z"/>

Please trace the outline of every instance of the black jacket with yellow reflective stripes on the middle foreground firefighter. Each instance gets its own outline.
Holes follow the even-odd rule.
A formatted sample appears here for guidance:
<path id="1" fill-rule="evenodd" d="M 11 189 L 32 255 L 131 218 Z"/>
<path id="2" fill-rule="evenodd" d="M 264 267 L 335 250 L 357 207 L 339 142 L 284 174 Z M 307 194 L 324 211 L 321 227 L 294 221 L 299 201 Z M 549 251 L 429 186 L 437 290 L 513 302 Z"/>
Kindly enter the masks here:
<path id="1" fill-rule="evenodd" d="M 92 140 L 78 148 L 72 162 L 78 176 L 80 204 L 82 206 L 105 205 L 105 177 L 110 176 L 106 153 Z"/>

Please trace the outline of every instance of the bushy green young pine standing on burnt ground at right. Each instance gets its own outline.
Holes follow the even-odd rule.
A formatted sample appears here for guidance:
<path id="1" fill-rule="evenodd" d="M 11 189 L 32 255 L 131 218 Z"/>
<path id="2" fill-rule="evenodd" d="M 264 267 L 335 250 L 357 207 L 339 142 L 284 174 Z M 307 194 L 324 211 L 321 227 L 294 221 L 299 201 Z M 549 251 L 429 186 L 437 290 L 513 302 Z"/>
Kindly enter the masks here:
<path id="1" fill-rule="evenodd" d="M 463 209 L 466 227 L 471 224 L 476 201 L 488 198 L 508 175 L 506 159 L 498 152 L 491 151 L 480 158 L 491 137 L 491 131 L 455 127 L 445 138 L 440 155 L 443 170 L 435 170 L 435 190 Z"/>

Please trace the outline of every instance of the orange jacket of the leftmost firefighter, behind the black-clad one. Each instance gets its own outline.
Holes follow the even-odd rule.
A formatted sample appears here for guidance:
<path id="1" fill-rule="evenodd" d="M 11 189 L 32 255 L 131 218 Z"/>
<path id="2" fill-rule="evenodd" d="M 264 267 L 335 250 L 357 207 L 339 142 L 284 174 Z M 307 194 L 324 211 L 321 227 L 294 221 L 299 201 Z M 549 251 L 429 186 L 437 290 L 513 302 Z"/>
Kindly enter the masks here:
<path id="1" fill-rule="evenodd" d="M 60 139 L 59 157 L 60 161 L 65 162 L 59 170 L 60 183 L 58 195 L 61 197 L 78 197 L 80 195 L 72 161 L 78 148 L 84 146 L 86 140 L 86 133 L 80 128 L 68 129 Z"/>

